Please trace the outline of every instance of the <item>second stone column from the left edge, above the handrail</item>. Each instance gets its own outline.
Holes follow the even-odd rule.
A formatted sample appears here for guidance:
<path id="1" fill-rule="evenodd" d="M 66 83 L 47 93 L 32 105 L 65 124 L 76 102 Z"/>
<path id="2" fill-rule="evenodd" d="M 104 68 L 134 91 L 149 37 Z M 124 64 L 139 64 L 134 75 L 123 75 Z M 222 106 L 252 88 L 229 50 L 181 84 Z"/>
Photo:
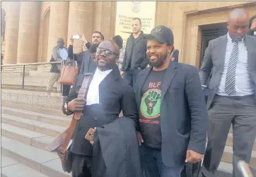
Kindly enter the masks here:
<path id="1" fill-rule="evenodd" d="M 17 63 L 37 63 L 40 1 L 21 1 Z"/>

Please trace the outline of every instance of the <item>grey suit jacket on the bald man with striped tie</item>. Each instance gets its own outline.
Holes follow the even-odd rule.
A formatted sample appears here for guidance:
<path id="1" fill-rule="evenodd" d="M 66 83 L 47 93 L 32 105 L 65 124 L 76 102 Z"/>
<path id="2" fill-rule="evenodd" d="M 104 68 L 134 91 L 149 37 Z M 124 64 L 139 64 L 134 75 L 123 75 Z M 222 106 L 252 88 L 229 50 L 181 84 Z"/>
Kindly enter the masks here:
<path id="1" fill-rule="evenodd" d="M 207 100 L 207 109 L 210 108 L 211 103 L 216 94 L 217 88 L 221 81 L 221 75 L 223 73 L 227 35 L 223 35 L 219 38 L 213 39 L 209 42 L 209 46 L 204 53 L 204 60 L 202 66 L 199 69 L 199 77 L 202 85 L 206 84 L 211 73 L 211 79 L 209 80 L 209 94 Z M 256 38 L 250 35 L 245 36 L 245 46 L 248 51 L 248 69 L 252 82 L 256 85 Z M 256 94 L 255 94 L 256 100 Z"/>

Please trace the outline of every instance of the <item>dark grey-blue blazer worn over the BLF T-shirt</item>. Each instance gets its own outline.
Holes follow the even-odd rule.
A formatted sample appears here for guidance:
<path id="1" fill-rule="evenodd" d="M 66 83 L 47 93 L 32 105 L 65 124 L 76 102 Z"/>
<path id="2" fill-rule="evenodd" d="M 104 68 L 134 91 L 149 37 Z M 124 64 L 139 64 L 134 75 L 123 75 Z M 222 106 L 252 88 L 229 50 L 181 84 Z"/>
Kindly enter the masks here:
<path id="1" fill-rule="evenodd" d="M 141 71 L 134 85 L 136 106 L 152 66 Z M 170 61 L 161 91 L 162 159 L 165 166 L 185 165 L 187 149 L 204 154 L 208 117 L 198 69 Z"/>

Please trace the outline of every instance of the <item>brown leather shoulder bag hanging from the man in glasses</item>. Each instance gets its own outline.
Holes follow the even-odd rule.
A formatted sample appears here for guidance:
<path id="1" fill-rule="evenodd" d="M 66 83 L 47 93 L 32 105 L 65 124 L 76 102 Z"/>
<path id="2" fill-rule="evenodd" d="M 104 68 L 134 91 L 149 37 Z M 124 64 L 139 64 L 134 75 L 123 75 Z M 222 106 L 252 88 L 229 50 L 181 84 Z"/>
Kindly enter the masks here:
<path id="1" fill-rule="evenodd" d="M 78 98 L 84 98 L 86 96 L 86 90 L 88 87 L 88 81 L 90 79 L 91 73 L 86 73 L 83 78 L 83 84 L 78 92 Z M 70 173 L 72 170 L 72 154 L 69 149 L 66 149 L 69 145 L 69 142 L 72 138 L 74 130 L 76 128 L 76 123 L 81 118 L 81 111 L 75 112 L 71 120 L 69 128 L 67 128 L 63 133 L 57 136 L 52 143 L 46 147 L 49 151 L 57 152 L 59 159 L 62 161 L 62 169 Z"/>

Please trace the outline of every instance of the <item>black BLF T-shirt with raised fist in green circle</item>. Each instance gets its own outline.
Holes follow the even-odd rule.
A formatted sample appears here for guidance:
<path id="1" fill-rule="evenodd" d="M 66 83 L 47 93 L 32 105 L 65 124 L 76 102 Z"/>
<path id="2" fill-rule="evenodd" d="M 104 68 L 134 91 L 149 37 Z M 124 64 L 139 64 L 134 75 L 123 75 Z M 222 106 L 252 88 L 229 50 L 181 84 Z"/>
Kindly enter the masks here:
<path id="1" fill-rule="evenodd" d="M 163 71 L 151 71 L 141 89 L 139 128 L 148 147 L 161 149 L 161 90 L 165 75 Z"/>

